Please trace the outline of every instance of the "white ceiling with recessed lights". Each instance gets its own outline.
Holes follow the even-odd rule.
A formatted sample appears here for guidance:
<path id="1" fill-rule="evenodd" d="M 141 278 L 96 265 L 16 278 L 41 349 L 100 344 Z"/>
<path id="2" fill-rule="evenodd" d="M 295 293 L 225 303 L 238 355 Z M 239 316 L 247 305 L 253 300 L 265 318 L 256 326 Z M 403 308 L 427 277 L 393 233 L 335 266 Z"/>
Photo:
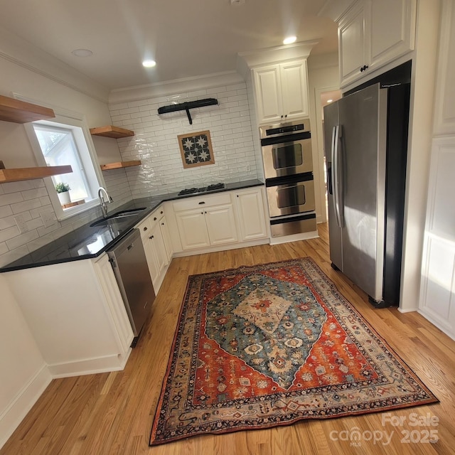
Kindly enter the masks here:
<path id="1" fill-rule="evenodd" d="M 237 53 L 288 35 L 319 41 L 311 54 L 337 50 L 336 24 L 316 16 L 325 0 L 234 1 L 0 0 L 0 26 L 109 90 L 233 71 Z"/>

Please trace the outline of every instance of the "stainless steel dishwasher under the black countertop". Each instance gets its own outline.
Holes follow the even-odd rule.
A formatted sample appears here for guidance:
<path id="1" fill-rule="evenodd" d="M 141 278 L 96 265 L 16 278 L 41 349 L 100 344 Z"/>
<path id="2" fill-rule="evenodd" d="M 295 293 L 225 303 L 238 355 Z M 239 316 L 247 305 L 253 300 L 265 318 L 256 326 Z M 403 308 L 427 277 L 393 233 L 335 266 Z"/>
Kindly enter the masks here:
<path id="1" fill-rule="evenodd" d="M 140 231 L 133 229 L 107 254 L 133 328 L 134 347 L 155 299 Z"/>

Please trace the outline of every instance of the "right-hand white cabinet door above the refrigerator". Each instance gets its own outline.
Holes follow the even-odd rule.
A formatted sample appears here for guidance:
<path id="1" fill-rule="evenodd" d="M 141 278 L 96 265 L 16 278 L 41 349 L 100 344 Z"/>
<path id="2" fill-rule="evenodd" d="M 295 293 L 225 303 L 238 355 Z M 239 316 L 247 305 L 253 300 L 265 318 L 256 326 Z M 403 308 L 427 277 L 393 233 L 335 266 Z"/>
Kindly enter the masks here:
<path id="1" fill-rule="evenodd" d="M 414 49 L 415 15 L 415 0 L 372 1 L 370 70 Z"/>

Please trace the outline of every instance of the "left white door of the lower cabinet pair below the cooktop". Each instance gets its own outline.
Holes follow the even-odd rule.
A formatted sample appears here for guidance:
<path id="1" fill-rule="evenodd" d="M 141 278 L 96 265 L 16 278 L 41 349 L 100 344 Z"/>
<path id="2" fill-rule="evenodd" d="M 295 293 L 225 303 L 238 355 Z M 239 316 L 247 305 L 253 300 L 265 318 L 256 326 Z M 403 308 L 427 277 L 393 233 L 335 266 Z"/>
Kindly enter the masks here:
<path id="1" fill-rule="evenodd" d="M 183 250 L 210 246 L 207 225 L 205 225 L 205 216 L 202 210 L 177 212 L 176 220 Z"/>

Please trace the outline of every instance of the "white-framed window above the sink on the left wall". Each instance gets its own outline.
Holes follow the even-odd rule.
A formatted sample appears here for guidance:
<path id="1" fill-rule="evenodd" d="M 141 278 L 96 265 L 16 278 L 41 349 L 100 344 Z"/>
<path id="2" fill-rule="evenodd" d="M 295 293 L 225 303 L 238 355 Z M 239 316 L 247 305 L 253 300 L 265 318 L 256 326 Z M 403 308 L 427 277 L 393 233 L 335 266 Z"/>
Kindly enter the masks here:
<path id="1" fill-rule="evenodd" d="M 72 173 L 44 179 L 55 215 L 58 220 L 63 220 L 98 205 L 97 189 L 105 183 L 83 116 L 53 109 L 55 119 L 39 120 L 25 126 L 39 166 L 69 164 L 73 169 Z M 68 183 L 71 203 L 77 205 L 68 207 L 65 204 L 64 207 L 60 203 L 55 191 L 57 183 Z"/>

